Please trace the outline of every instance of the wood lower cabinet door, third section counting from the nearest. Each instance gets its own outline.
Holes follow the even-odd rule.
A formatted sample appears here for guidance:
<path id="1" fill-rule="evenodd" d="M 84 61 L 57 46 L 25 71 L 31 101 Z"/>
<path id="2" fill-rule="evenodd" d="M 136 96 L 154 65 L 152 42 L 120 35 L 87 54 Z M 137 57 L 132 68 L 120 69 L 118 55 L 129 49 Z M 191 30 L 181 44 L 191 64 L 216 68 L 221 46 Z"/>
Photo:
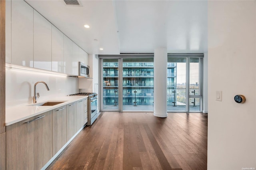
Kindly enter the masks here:
<path id="1" fill-rule="evenodd" d="M 76 102 L 67 105 L 67 141 L 76 134 Z"/>

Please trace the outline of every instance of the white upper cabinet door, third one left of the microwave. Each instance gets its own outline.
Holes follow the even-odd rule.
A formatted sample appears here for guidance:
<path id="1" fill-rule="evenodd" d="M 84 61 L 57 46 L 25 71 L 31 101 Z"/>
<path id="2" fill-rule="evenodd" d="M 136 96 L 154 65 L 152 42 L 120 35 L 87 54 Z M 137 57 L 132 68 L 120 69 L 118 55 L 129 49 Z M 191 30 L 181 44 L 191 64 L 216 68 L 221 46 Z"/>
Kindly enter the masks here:
<path id="1" fill-rule="evenodd" d="M 52 71 L 63 73 L 64 34 L 52 25 Z"/>

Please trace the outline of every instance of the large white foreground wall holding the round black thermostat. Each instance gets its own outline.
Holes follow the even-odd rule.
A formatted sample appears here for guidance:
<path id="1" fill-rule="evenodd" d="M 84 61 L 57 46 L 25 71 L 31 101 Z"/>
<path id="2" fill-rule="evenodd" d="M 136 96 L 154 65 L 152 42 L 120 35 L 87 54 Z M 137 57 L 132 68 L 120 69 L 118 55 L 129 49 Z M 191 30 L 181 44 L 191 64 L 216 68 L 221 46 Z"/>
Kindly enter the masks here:
<path id="1" fill-rule="evenodd" d="M 208 1 L 208 170 L 256 168 L 255 3 Z"/>

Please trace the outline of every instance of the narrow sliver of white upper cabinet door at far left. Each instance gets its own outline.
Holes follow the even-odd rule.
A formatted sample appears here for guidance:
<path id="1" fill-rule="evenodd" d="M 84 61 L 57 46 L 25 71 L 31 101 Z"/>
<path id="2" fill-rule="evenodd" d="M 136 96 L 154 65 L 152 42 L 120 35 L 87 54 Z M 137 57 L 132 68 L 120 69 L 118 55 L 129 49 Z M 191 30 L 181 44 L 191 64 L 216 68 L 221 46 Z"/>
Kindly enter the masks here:
<path id="1" fill-rule="evenodd" d="M 5 2 L 5 62 L 11 63 L 11 1 Z"/>

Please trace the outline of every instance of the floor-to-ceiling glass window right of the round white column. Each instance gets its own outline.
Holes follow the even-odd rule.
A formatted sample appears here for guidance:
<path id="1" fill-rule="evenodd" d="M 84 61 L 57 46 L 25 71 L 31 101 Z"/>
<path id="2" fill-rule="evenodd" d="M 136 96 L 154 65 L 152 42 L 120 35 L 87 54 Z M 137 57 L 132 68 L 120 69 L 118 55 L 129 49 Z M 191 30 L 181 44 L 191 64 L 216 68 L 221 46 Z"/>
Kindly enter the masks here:
<path id="1" fill-rule="evenodd" d="M 202 111 L 203 55 L 168 55 L 167 110 Z"/>

